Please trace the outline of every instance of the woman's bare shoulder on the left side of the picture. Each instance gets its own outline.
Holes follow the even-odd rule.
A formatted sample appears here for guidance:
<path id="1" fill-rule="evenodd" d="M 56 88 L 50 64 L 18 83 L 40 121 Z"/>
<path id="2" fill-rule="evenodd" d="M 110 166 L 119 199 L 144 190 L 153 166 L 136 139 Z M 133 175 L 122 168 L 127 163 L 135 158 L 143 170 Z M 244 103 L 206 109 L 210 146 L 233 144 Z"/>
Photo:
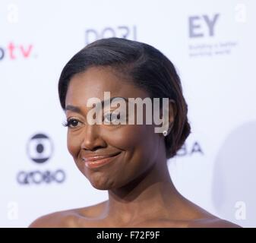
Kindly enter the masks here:
<path id="1" fill-rule="evenodd" d="M 86 226 L 87 219 L 100 212 L 103 203 L 71 210 L 49 213 L 33 221 L 29 228 L 71 228 Z"/>

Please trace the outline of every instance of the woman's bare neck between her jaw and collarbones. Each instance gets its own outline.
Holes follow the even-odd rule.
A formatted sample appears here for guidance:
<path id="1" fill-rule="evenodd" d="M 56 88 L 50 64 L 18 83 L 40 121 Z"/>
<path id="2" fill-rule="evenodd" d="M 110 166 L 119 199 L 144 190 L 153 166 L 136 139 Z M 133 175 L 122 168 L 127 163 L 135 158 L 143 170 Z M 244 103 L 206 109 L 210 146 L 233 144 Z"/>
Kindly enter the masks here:
<path id="1" fill-rule="evenodd" d="M 166 161 L 156 162 L 144 175 L 125 187 L 109 190 L 106 217 L 124 224 L 166 218 L 178 194 Z"/>

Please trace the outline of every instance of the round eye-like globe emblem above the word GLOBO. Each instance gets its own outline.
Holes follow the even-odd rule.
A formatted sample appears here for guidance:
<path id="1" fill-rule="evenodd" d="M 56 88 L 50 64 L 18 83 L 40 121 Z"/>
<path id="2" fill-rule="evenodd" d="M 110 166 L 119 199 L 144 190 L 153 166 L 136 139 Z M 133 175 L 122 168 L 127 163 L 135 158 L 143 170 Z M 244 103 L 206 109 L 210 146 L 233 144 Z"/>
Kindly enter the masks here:
<path id="1" fill-rule="evenodd" d="M 52 140 L 46 134 L 36 134 L 27 143 L 27 156 L 35 163 L 45 163 L 52 153 Z"/>

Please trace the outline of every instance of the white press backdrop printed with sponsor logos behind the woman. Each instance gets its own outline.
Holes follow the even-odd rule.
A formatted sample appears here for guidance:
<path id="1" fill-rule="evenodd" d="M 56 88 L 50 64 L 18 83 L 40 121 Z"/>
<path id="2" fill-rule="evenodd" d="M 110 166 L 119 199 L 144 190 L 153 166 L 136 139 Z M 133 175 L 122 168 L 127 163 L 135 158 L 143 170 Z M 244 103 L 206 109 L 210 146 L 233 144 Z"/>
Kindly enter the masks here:
<path id="1" fill-rule="evenodd" d="M 136 39 L 175 64 L 192 134 L 169 160 L 178 190 L 256 226 L 256 1 L 0 2 L 0 226 L 106 200 L 66 148 L 58 77 L 97 38 Z"/>

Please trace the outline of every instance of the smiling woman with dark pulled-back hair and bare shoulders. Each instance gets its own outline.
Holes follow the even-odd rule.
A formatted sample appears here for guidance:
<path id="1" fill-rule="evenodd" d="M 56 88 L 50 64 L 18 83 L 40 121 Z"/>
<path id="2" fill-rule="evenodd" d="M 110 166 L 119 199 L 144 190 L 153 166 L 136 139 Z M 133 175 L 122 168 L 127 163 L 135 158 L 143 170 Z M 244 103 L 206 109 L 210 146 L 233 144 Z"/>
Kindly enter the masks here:
<path id="1" fill-rule="evenodd" d="M 106 91 L 125 100 L 168 98 L 166 129 L 155 132 L 154 122 L 116 125 L 120 112 L 112 105 L 104 106 L 106 123 L 90 125 L 87 114 L 95 106 L 87 101 L 104 101 Z M 43 216 L 31 227 L 236 227 L 182 197 L 172 183 L 167 159 L 182 147 L 190 125 L 179 76 L 159 50 L 128 39 L 97 40 L 65 65 L 58 94 L 68 151 L 94 188 L 108 190 L 109 200 Z"/>

